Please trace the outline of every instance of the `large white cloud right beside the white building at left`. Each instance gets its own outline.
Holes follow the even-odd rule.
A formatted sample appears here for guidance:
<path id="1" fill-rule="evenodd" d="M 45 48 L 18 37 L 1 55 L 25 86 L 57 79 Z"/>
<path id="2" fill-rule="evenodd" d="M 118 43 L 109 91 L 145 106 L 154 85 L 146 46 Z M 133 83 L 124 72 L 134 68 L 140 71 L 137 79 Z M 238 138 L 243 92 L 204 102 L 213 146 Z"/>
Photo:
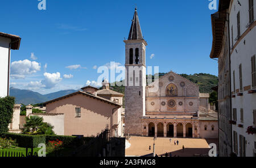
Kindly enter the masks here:
<path id="1" fill-rule="evenodd" d="M 11 77 L 15 79 L 24 79 L 26 75 L 34 74 L 40 71 L 40 63 L 24 59 L 23 61 L 14 61 L 11 63 Z"/>

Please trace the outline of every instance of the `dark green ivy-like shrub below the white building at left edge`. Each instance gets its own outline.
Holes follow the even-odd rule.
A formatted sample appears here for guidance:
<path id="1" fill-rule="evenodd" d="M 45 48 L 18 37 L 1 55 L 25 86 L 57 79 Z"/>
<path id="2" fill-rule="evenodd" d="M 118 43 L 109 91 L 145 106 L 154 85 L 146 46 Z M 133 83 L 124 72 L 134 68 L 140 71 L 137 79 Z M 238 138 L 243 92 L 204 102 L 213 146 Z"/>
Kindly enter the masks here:
<path id="1" fill-rule="evenodd" d="M 8 132 L 8 125 L 13 118 L 14 97 L 0 98 L 0 133 Z"/>

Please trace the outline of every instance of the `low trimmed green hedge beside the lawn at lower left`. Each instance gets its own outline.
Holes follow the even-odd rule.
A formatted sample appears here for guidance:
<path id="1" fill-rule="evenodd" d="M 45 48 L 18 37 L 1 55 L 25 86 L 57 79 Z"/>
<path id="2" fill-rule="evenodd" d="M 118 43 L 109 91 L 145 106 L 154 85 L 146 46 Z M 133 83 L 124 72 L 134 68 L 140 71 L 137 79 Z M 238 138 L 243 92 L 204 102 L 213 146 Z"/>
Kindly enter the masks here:
<path id="1" fill-rule="evenodd" d="M 19 147 L 23 148 L 36 148 L 40 143 L 46 143 L 45 135 L 24 135 L 21 133 L 2 133 L 2 137 L 11 138 L 16 140 Z"/>

